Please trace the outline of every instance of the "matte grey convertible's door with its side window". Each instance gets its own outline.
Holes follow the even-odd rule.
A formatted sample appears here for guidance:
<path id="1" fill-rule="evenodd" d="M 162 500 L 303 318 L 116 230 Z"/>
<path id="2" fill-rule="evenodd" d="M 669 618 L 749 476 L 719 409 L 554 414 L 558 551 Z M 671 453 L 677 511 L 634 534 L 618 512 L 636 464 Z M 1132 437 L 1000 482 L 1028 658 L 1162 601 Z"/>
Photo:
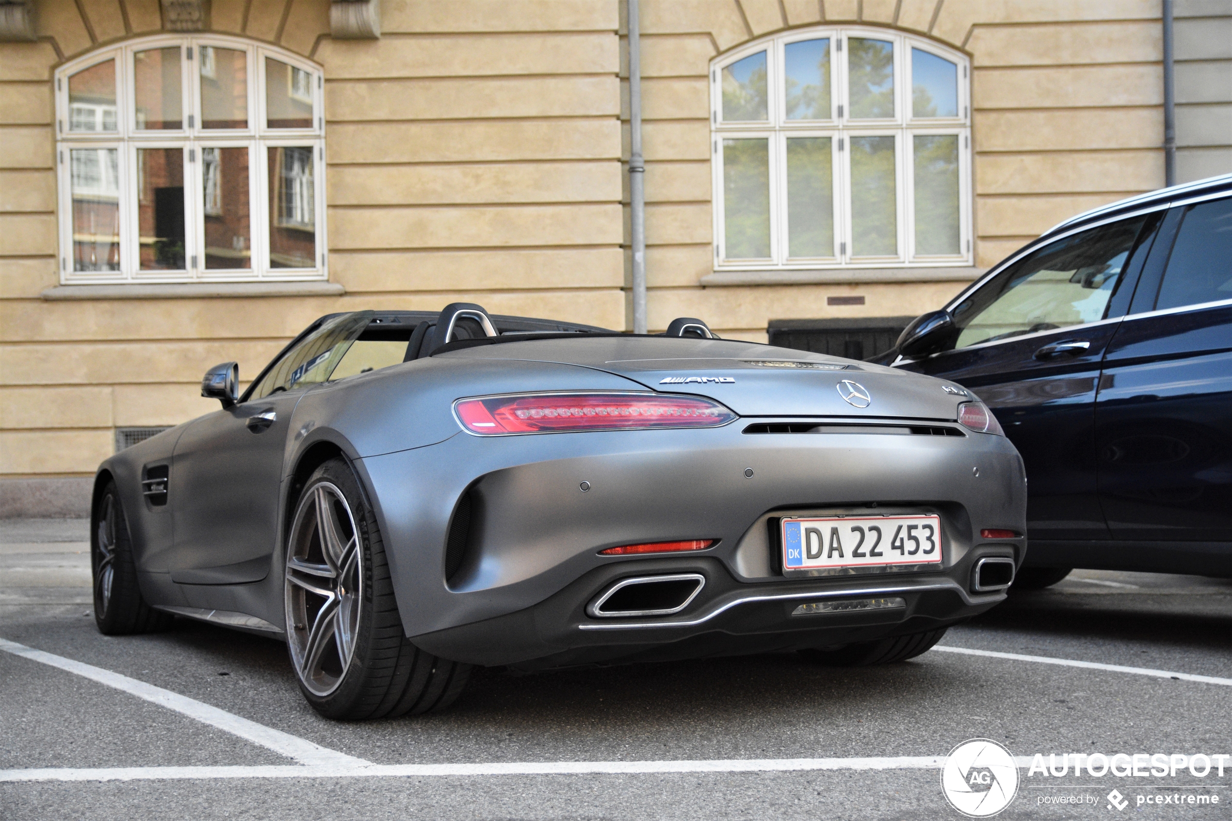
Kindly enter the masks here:
<path id="1" fill-rule="evenodd" d="M 184 432 L 172 464 L 172 581 L 234 585 L 269 574 L 296 405 L 329 378 L 371 318 L 361 311 L 324 322 L 266 368 L 244 401 Z"/>

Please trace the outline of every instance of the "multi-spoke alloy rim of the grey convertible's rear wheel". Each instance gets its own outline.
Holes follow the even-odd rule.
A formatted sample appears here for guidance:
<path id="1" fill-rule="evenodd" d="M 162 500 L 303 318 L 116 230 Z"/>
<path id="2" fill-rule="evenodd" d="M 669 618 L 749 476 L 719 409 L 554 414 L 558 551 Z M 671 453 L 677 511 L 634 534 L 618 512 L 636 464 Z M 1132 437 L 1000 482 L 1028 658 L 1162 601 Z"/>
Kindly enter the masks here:
<path id="1" fill-rule="evenodd" d="M 303 686 L 329 695 L 355 655 L 363 599 L 362 550 L 342 491 L 322 481 L 299 500 L 287 544 L 287 644 Z"/>

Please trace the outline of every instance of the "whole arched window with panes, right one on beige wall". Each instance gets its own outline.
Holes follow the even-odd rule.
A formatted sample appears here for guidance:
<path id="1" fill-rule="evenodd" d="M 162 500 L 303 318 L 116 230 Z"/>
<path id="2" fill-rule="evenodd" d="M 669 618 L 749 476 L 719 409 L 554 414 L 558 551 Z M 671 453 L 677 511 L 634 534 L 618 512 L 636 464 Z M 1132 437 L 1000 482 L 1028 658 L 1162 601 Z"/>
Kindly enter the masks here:
<path id="1" fill-rule="evenodd" d="M 717 59 L 716 266 L 970 265 L 967 74 L 957 52 L 862 27 Z"/>

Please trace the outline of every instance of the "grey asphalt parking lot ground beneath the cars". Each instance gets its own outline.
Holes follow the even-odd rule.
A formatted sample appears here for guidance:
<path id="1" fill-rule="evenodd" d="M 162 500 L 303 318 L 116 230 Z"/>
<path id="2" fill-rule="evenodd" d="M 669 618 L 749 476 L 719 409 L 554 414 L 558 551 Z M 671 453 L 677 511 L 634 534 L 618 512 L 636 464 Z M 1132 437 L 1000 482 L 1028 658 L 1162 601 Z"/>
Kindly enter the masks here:
<path id="1" fill-rule="evenodd" d="M 447 713 L 357 724 L 307 707 L 277 641 L 184 619 L 100 635 L 89 585 L 85 522 L 0 522 L 0 639 L 68 660 L 0 646 L 5 820 L 961 819 L 925 759 L 977 737 L 1020 762 L 1002 819 L 1232 819 L 1232 758 L 1222 775 L 1188 769 L 1232 753 L 1232 580 L 1076 571 L 941 643 L 976 655 L 484 670 Z M 230 719 L 176 711 L 181 697 L 376 768 L 304 767 Z M 1037 753 L 1057 769 L 1066 753 L 1186 758 L 1163 777 L 1076 777 L 1031 769 Z"/>

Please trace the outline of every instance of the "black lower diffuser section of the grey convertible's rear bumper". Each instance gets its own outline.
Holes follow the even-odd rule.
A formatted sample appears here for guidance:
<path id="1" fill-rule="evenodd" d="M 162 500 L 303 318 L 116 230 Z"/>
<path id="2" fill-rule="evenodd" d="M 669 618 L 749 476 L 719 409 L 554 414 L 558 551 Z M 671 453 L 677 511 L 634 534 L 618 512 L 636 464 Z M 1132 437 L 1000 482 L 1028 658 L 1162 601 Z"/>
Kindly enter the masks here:
<path id="1" fill-rule="evenodd" d="M 543 602 L 413 640 L 456 661 L 542 670 L 594 663 L 667 661 L 701 656 L 801 650 L 871 641 L 949 627 L 1004 599 L 1003 590 L 971 592 L 954 575 L 970 575 L 1002 548 L 972 551 L 946 574 L 892 574 L 859 579 L 744 583 L 715 558 L 652 559 L 585 574 Z M 621 579 L 696 574 L 706 579 L 680 613 L 664 617 L 594 618 L 588 604 Z M 886 609 L 806 612 L 801 606 L 902 602 Z"/>

